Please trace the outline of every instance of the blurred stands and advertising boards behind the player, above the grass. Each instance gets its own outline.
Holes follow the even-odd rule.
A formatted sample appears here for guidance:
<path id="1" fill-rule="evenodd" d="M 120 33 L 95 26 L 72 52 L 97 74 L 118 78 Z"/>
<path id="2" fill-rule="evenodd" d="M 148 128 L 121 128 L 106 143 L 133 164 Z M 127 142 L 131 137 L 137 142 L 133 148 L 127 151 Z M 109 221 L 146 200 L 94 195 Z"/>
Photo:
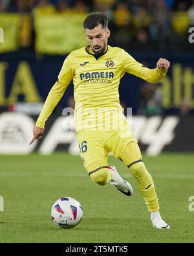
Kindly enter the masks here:
<path id="1" fill-rule="evenodd" d="M 147 67 L 155 67 L 160 57 L 171 61 L 158 84 L 129 75 L 120 84 L 120 100 L 133 109 L 133 130 L 142 150 L 149 155 L 193 152 L 194 43 L 188 38 L 194 1 L 1 0 L 0 154 L 78 154 L 74 132 L 61 130 L 63 108 L 74 107 L 72 84 L 48 120 L 44 139 L 33 146 L 27 142 L 63 60 L 87 45 L 82 22 L 95 11 L 109 17 L 111 46 L 123 47 Z"/>

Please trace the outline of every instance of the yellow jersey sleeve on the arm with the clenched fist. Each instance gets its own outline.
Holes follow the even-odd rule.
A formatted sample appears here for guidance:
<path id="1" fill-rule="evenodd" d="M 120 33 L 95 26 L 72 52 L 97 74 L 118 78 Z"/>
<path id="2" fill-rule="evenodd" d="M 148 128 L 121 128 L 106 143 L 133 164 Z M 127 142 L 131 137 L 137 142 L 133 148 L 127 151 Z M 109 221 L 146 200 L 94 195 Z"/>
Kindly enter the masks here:
<path id="1" fill-rule="evenodd" d="M 158 67 L 149 69 L 140 62 L 137 62 L 130 54 L 123 52 L 123 65 L 125 72 L 138 76 L 150 83 L 158 82 L 166 76 L 167 71 L 162 71 Z"/>

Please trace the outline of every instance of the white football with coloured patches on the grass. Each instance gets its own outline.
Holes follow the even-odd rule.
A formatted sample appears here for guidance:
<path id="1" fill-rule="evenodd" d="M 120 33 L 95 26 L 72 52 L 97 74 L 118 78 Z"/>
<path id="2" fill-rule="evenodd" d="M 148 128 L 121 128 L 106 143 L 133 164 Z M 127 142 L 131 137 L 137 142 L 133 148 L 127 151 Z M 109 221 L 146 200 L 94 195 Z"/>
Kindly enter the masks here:
<path id="1" fill-rule="evenodd" d="M 77 226 L 83 216 L 81 204 L 70 197 L 58 199 L 51 209 L 52 221 L 62 228 Z"/>

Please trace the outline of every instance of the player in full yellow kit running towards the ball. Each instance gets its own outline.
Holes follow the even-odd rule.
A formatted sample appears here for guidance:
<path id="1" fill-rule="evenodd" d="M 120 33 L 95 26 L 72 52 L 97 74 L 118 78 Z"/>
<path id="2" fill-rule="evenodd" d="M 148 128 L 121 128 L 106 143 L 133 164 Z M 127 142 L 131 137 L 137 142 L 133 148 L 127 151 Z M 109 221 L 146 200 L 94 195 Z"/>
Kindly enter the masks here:
<path id="1" fill-rule="evenodd" d="M 137 140 L 122 113 L 118 86 L 125 72 L 147 82 L 158 82 L 169 69 L 169 61 L 160 58 L 155 69 L 149 69 L 119 47 L 107 44 L 111 34 L 107 17 L 102 13 L 90 14 L 83 21 L 89 46 L 72 51 L 65 59 L 34 126 L 34 137 L 40 139 L 45 122 L 65 93 L 71 80 L 74 83 L 75 128 L 80 155 L 92 181 L 99 185 L 114 185 L 126 196 L 133 194 L 129 182 L 124 181 L 115 167 L 107 164 L 112 152 L 124 161 L 138 186 L 151 213 L 155 228 L 169 228 L 159 213 L 158 198 L 151 175 L 147 171 Z"/>

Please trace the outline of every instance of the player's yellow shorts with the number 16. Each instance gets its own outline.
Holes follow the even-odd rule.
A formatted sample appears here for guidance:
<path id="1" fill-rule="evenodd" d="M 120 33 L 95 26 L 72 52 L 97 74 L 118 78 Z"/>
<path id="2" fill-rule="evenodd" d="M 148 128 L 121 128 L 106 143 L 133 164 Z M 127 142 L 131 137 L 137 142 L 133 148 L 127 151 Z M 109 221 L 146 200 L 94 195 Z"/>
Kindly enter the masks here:
<path id="1" fill-rule="evenodd" d="M 129 126 L 126 126 L 125 130 L 79 130 L 76 135 L 85 169 L 98 160 L 104 161 L 107 165 L 109 152 L 120 158 L 128 143 L 137 142 Z"/>

